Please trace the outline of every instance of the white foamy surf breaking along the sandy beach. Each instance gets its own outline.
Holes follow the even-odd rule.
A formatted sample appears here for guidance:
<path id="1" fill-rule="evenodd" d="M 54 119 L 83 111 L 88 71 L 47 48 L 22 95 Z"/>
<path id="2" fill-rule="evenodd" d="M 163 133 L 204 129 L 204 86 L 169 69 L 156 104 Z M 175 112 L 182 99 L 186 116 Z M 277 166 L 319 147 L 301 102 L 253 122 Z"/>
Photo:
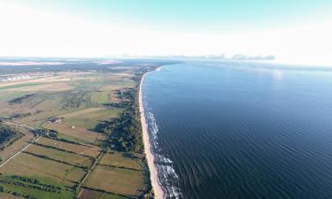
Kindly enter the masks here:
<path id="1" fill-rule="evenodd" d="M 143 97 L 143 99 L 146 97 Z M 165 198 L 182 199 L 181 188 L 179 186 L 179 176 L 174 170 L 174 162 L 163 153 L 162 147 L 158 142 L 158 126 L 154 114 L 146 100 L 143 100 L 145 118 L 148 122 L 152 153 L 155 157 L 155 165 L 158 170 L 158 182 L 164 189 Z"/>

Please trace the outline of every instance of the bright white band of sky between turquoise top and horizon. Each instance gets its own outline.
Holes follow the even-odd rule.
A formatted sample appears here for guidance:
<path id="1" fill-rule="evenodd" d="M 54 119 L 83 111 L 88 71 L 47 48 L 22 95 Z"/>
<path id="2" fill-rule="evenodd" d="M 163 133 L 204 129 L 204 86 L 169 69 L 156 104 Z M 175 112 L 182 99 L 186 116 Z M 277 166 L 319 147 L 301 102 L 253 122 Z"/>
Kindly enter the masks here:
<path id="1" fill-rule="evenodd" d="M 0 3 L 0 55 L 274 55 L 285 63 L 332 65 L 332 23 L 243 34 L 163 33 Z"/>

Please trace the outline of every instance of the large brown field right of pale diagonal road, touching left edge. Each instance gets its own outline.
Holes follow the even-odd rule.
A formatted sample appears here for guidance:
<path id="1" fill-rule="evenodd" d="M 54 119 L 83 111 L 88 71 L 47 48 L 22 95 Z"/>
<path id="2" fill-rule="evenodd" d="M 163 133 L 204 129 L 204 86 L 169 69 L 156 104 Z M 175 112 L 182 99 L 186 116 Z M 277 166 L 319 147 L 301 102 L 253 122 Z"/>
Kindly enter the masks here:
<path id="1" fill-rule="evenodd" d="M 85 171 L 81 168 L 35 157 L 26 153 L 19 153 L 17 157 L 14 157 L 1 167 L 0 172 L 8 175 L 15 174 L 37 178 L 46 176 L 65 184 L 71 181 L 78 182 L 85 174 Z"/>

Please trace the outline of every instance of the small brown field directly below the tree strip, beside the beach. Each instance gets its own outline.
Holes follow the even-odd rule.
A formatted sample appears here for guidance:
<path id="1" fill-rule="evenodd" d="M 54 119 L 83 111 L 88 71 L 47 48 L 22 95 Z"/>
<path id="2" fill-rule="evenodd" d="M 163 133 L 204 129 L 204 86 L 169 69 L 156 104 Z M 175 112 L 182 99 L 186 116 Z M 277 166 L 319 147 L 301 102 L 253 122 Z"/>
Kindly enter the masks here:
<path id="1" fill-rule="evenodd" d="M 139 159 L 123 157 L 120 153 L 105 154 L 104 157 L 100 160 L 99 164 L 101 165 L 112 165 L 126 167 L 129 169 L 143 170 L 142 165 L 139 163 Z"/>

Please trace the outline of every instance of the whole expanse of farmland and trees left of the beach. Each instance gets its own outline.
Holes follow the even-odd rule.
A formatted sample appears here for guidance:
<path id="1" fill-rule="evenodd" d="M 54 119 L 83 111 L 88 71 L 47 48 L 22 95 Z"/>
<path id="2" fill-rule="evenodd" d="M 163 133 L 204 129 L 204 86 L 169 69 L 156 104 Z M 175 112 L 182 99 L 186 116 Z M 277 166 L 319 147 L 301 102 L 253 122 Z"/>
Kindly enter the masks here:
<path id="1" fill-rule="evenodd" d="M 164 64 L 0 66 L 0 198 L 152 197 L 137 97 Z"/>

